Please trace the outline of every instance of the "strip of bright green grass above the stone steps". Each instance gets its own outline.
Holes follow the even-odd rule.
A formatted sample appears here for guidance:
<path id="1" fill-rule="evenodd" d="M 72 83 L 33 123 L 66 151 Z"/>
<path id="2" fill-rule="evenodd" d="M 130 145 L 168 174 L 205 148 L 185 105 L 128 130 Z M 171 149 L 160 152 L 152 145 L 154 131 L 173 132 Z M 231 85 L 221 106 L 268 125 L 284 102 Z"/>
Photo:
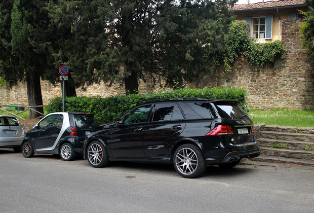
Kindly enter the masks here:
<path id="1" fill-rule="evenodd" d="M 266 125 L 314 127 L 314 111 L 272 108 L 270 110 L 250 109 L 249 117 L 254 123 Z"/>

